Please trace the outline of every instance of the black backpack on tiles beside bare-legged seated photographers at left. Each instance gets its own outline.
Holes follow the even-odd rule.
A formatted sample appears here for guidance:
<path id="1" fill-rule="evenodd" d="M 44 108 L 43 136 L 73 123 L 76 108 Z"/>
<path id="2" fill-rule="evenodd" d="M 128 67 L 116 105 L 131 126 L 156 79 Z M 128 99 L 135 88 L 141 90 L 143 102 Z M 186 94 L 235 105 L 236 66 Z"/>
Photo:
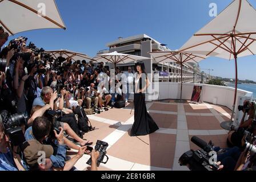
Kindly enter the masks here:
<path id="1" fill-rule="evenodd" d="M 78 115 L 79 130 L 82 130 L 85 133 L 95 130 L 95 127 L 91 126 L 91 122 L 82 107 L 77 107 L 77 109 L 75 109 L 75 114 Z"/>

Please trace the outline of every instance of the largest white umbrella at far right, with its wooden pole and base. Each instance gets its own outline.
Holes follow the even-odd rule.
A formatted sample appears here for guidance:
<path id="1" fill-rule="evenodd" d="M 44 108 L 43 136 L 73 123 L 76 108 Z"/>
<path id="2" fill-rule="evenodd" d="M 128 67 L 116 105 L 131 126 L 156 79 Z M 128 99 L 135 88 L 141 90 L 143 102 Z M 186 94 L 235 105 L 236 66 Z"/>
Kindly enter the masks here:
<path id="1" fill-rule="evenodd" d="M 256 53 L 256 11 L 246 0 L 235 0 L 216 18 L 192 36 L 181 51 L 235 60 L 235 94 L 231 122 L 222 127 L 230 130 L 237 100 L 237 58 Z"/>

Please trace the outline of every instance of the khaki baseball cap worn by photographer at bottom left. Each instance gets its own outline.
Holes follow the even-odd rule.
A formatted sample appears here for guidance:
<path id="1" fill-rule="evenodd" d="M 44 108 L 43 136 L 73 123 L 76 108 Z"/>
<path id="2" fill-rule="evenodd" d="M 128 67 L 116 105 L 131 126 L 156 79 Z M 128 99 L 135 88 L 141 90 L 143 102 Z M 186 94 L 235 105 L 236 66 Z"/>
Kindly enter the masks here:
<path id="1" fill-rule="evenodd" d="M 28 140 L 23 144 L 23 155 L 27 164 L 33 166 L 37 163 L 37 160 L 41 155 L 38 155 L 39 151 L 45 152 L 45 158 L 49 159 L 53 155 L 53 147 L 50 145 L 41 144 L 38 140 Z"/>

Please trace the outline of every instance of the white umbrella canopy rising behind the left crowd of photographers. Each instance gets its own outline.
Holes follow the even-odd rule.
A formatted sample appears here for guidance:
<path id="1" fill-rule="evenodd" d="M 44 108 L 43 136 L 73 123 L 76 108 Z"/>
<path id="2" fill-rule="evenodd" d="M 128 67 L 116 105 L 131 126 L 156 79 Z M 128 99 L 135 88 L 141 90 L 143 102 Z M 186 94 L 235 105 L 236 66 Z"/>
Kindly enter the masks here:
<path id="1" fill-rule="evenodd" d="M 89 57 L 86 54 L 79 53 L 79 52 L 73 52 L 69 50 L 57 50 L 57 51 L 45 51 L 45 53 L 50 53 L 51 56 L 53 56 L 55 59 L 57 59 L 59 56 L 64 58 L 71 58 L 73 61 L 77 60 L 92 60 L 91 57 Z"/>

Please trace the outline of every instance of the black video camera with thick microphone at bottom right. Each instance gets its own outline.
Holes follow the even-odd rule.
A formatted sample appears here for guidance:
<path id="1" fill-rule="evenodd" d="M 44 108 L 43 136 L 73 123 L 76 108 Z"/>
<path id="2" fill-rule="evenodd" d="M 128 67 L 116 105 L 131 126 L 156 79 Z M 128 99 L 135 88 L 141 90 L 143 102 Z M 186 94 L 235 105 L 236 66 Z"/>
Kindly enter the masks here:
<path id="1" fill-rule="evenodd" d="M 191 171 L 217 171 L 217 164 L 210 164 L 209 152 L 213 151 L 213 146 L 198 137 L 192 137 L 191 142 L 195 143 L 201 150 L 190 150 L 179 158 L 181 166 L 187 166 Z"/>

